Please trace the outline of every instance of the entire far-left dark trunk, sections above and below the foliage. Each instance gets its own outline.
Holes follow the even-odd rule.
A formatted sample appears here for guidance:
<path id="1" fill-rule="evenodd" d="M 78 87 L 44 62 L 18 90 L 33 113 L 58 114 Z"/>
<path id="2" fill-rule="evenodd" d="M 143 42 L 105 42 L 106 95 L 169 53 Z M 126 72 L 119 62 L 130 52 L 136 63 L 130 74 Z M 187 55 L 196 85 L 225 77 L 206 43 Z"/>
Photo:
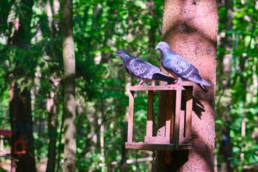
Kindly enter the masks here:
<path id="1" fill-rule="evenodd" d="M 15 1 L 15 21 L 13 21 L 13 35 L 10 35 L 8 44 L 21 50 L 28 50 L 30 46 L 31 33 L 30 22 L 32 17 L 33 0 Z M 16 61 L 19 63 L 19 59 Z M 25 77 L 25 71 L 14 69 L 9 75 L 10 79 L 10 120 L 12 129 L 11 138 L 11 172 L 35 172 L 33 123 L 31 114 L 31 95 L 29 88 L 21 90 L 17 84 L 17 78 Z M 31 77 L 31 76 L 26 76 Z M 26 81 L 24 81 L 26 82 Z M 21 153 L 23 145 L 25 153 Z M 19 143 L 19 144 L 15 144 Z M 16 145 L 16 152 L 15 152 Z"/>

